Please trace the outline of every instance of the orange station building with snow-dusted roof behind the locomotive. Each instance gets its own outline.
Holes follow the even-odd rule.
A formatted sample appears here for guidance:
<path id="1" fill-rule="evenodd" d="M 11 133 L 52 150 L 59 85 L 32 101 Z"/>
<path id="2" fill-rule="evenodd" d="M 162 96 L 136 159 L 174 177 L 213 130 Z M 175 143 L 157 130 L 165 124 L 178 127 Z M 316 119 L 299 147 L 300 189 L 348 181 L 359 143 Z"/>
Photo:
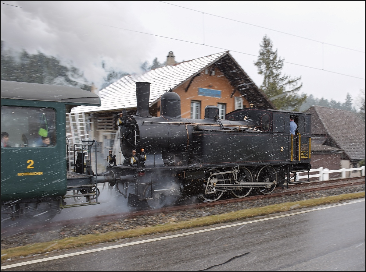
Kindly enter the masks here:
<path id="1" fill-rule="evenodd" d="M 149 111 L 152 116 L 160 116 L 160 97 L 169 90 L 179 94 L 183 118 L 204 118 L 204 109 L 209 105 L 219 107 L 221 119 L 226 113 L 249 107 L 250 103 L 257 108 L 275 109 L 228 51 L 182 63 L 176 63 L 173 52 L 169 52 L 166 64 L 140 75 L 124 76 L 100 90 L 101 107 L 72 109 L 72 114 L 85 116 L 87 126 L 90 125 L 87 128 L 90 138 L 100 143 L 102 158 L 107 158 L 112 148 L 118 163 L 116 118 L 124 108 L 129 114 L 136 113 L 136 82 L 151 83 Z"/>

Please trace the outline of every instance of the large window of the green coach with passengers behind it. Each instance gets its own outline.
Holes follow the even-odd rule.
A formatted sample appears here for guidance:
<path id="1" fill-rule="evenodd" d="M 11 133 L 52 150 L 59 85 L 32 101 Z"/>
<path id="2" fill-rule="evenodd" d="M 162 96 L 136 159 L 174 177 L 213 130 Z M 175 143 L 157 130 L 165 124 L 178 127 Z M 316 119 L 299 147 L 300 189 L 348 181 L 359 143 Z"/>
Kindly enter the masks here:
<path id="1" fill-rule="evenodd" d="M 52 147 L 56 144 L 56 112 L 50 108 L 2 106 L 1 132 L 9 135 L 7 147 Z"/>

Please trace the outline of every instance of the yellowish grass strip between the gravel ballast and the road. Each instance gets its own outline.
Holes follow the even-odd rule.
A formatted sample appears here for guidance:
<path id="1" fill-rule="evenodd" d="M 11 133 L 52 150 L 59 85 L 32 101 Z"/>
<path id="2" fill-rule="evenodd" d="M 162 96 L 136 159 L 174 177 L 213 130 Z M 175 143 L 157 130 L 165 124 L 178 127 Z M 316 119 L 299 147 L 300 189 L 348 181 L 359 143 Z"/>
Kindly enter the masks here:
<path id="1" fill-rule="evenodd" d="M 294 209 L 314 207 L 318 205 L 337 203 L 344 200 L 359 199 L 365 197 L 365 192 L 339 194 L 337 196 L 320 197 L 317 199 L 301 200 L 296 202 L 287 202 L 269 205 L 259 208 L 243 209 L 235 212 L 228 212 L 219 215 L 210 215 L 198 219 L 186 220 L 181 222 L 170 222 L 149 227 L 139 227 L 132 230 L 111 231 L 108 233 L 86 234 L 78 237 L 68 237 L 51 242 L 33 243 L 15 248 L 1 250 L 1 261 L 19 256 L 29 256 L 33 254 L 42 254 L 52 250 L 62 250 L 76 248 L 78 246 L 94 245 L 97 243 L 112 242 L 119 239 L 138 237 L 141 235 L 150 235 L 154 233 L 165 233 L 170 231 L 182 230 L 193 227 L 204 227 L 218 223 L 232 222 L 240 219 L 252 218 L 254 216 L 263 216 L 285 212 Z"/>

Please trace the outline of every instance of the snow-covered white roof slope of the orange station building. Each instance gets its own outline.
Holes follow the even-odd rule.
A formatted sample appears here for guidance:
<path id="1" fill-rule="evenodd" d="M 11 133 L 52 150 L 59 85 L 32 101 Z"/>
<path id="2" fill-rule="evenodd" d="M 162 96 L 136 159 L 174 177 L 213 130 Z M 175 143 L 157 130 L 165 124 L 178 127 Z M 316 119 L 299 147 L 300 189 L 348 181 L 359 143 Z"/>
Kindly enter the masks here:
<path id="1" fill-rule="evenodd" d="M 226 56 L 228 51 L 209 56 L 184 61 L 147 71 L 141 75 L 128 75 L 99 91 L 101 107 L 78 106 L 72 112 L 103 112 L 136 107 L 136 82 L 150 82 L 151 106 L 160 96 L 169 89 L 186 82 L 198 72 L 209 67 L 218 59 Z"/>

